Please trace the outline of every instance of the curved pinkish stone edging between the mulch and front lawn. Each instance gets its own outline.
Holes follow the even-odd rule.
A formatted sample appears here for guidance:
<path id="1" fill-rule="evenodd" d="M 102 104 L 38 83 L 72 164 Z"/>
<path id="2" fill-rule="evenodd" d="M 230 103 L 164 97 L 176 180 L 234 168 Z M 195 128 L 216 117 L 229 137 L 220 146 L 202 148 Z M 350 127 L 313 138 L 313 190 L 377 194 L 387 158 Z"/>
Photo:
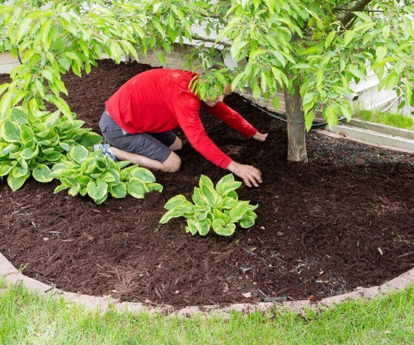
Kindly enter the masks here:
<path id="1" fill-rule="evenodd" d="M 216 305 L 207 305 L 202 307 L 190 306 L 179 310 L 174 310 L 172 306 L 147 306 L 139 302 L 119 302 L 110 297 L 99 297 L 82 295 L 73 292 L 66 292 L 56 289 L 53 286 L 42 283 L 36 279 L 30 278 L 18 272 L 18 270 L 0 253 L 0 277 L 5 276 L 6 286 L 22 283 L 29 291 L 38 292 L 48 296 L 62 296 L 67 303 L 77 303 L 87 309 L 107 310 L 114 307 L 118 311 L 139 311 L 160 312 L 162 314 L 175 313 L 179 316 L 191 316 L 194 314 L 219 312 L 224 316 L 229 316 L 231 311 L 240 311 L 250 313 L 254 311 L 269 311 L 275 307 L 291 311 L 301 312 L 305 307 L 329 307 L 344 302 L 347 299 L 356 300 L 358 298 L 371 299 L 378 294 L 388 293 L 391 290 L 401 290 L 404 287 L 414 283 L 414 268 L 394 279 L 386 281 L 380 286 L 368 288 L 357 288 L 352 292 L 342 295 L 327 297 L 319 302 L 311 303 L 308 300 L 287 301 L 287 302 L 259 302 L 259 303 L 235 303 L 226 307 L 217 307 Z"/>

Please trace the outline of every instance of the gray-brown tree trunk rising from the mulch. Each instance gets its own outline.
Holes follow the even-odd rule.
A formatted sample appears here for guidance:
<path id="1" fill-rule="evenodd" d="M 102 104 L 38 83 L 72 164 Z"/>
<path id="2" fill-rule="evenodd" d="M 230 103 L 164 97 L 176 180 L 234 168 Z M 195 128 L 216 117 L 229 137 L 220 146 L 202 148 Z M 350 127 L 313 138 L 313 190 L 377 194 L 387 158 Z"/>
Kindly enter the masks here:
<path id="1" fill-rule="evenodd" d="M 290 162 L 308 163 L 305 141 L 305 117 L 301 111 L 301 95 L 299 85 L 295 93 L 290 95 L 284 89 L 286 118 L 287 118 L 287 159 Z"/>

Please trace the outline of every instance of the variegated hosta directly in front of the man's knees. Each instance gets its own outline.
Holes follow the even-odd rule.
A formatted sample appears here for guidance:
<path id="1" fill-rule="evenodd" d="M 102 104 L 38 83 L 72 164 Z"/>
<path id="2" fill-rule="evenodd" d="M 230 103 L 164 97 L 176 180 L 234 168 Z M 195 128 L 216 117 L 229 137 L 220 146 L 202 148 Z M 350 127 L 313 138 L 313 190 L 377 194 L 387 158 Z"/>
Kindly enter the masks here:
<path id="1" fill-rule="evenodd" d="M 109 194 L 113 198 L 131 195 L 142 199 L 147 192 L 163 189 L 149 170 L 136 165 L 125 168 L 130 162 L 115 163 L 104 156 L 102 150 L 89 152 L 84 146 L 76 145 L 70 149 L 67 158 L 55 164 L 49 174 L 62 182 L 55 193 L 69 188 L 69 195 L 87 194 L 99 205 Z"/>

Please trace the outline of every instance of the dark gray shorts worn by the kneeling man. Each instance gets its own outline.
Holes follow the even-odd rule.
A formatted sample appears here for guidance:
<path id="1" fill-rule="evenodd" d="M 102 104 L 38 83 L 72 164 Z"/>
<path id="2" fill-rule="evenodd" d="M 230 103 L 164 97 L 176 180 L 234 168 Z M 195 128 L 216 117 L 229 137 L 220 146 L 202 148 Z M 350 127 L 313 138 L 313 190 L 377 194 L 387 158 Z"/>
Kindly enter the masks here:
<path id="1" fill-rule="evenodd" d="M 119 127 L 106 111 L 99 121 L 102 135 L 106 142 L 120 150 L 135 153 L 164 163 L 171 154 L 168 148 L 175 141 L 171 131 L 162 133 L 129 134 Z"/>

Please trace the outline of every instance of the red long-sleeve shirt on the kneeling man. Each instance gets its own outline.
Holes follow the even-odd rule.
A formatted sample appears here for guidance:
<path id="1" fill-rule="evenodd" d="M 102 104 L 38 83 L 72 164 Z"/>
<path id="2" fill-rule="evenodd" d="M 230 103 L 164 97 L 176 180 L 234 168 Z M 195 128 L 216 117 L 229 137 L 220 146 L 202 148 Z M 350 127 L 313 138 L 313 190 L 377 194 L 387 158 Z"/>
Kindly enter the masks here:
<path id="1" fill-rule="evenodd" d="M 208 138 L 200 119 L 200 106 L 249 138 L 257 130 L 226 104 L 219 102 L 210 107 L 200 101 L 188 88 L 194 75 L 179 69 L 139 73 L 106 101 L 106 110 L 130 134 L 166 132 L 179 126 L 200 154 L 227 169 L 231 159 Z"/>

